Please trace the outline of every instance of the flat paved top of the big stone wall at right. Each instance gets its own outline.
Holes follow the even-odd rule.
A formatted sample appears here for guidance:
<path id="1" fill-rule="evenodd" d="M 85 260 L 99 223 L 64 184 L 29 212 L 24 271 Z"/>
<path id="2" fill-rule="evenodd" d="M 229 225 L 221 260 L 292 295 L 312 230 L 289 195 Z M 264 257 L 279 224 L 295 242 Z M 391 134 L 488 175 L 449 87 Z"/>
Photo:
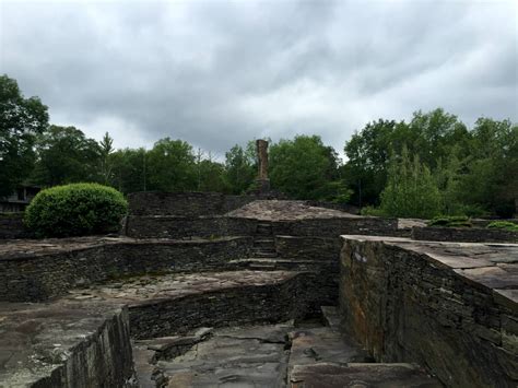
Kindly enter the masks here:
<path id="1" fill-rule="evenodd" d="M 421 242 L 402 237 L 344 235 L 344 239 L 378 242 L 421 255 L 435 266 L 451 269 L 470 284 L 499 290 L 501 298 L 518 309 L 518 244 Z M 365 258 L 357 258 L 363 260 Z"/>

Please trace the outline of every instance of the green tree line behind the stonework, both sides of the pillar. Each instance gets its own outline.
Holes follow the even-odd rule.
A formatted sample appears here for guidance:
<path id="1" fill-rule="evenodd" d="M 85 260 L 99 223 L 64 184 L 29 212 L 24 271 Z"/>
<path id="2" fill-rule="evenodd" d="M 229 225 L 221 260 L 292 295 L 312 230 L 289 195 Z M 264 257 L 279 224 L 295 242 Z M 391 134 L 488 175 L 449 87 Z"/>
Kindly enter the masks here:
<path id="1" fill-rule="evenodd" d="M 74 127 L 50 125 L 47 107 L 0 77 L 0 196 L 19 185 L 51 187 L 93 181 L 123 193 L 145 190 L 244 193 L 257 176 L 255 141 L 236 144 L 224 161 L 183 140 L 151 150 L 116 150 Z M 294 199 L 366 207 L 382 215 L 484 213 L 509 216 L 518 185 L 518 128 L 480 118 L 468 128 L 438 108 L 409 122 L 379 119 L 344 145 L 346 161 L 318 136 L 271 143 L 270 180 Z"/>

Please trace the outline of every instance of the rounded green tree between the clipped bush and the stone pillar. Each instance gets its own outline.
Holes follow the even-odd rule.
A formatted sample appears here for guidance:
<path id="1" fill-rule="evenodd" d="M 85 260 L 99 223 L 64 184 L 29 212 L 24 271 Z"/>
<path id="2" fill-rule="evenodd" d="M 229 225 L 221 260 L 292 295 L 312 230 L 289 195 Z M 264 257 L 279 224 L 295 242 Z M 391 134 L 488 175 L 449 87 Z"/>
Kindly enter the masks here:
<path id="1" fill-rule="evenodd" d="M 189 191 L 197 187 L 192 146 L 181 140 L 158 140 L 148 152 L 149 187 L 160 191 Z"/>

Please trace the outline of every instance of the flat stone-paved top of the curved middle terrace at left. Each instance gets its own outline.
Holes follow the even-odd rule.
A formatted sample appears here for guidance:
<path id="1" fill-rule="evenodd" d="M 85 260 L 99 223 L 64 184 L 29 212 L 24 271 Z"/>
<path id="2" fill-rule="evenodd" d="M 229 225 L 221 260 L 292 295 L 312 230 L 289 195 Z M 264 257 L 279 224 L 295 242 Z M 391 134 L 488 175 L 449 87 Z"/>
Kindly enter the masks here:
<path id="1" fill-rule="evenodd" d="M 132 307 L 224 289 L 275 284 L 292 279 L 298 273 L 293 271 L 226 271 L 143 275 L 90 289 L 72 290 L 64 298 L 69 301 L 116 302 Z"/>

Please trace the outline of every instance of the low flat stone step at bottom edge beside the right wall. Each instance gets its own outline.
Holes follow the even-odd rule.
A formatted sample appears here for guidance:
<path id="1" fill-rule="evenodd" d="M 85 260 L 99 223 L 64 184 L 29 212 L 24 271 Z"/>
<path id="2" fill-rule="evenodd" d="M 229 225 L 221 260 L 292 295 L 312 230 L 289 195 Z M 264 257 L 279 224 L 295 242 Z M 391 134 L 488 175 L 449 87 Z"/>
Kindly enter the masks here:
<path id="1" fill-rule="evenodd" d="M 412 364 L 321 363 L 297 365 L 291 375 L 292 388 L 439 388 L 436 379 Z"/>

